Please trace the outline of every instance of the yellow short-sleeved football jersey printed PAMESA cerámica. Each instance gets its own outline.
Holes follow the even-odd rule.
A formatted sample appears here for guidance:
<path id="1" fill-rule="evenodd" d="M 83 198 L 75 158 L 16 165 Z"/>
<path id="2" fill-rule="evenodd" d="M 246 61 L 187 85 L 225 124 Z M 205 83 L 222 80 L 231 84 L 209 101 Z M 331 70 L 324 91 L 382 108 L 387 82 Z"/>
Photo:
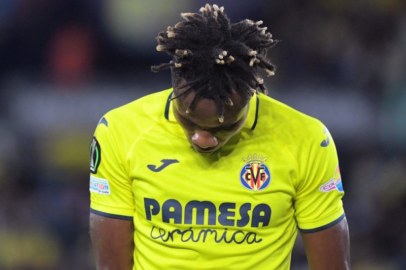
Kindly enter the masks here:
<path id="1" fill-rule="evenodd" d="M 300 229 L 344 218 L 324 125 L 259 94 L 212 155 L 190 147 L 172 89 L 108 112 L 90 145 L 90 211 L 133 220 L 134 269 L 288 269 Z"/>

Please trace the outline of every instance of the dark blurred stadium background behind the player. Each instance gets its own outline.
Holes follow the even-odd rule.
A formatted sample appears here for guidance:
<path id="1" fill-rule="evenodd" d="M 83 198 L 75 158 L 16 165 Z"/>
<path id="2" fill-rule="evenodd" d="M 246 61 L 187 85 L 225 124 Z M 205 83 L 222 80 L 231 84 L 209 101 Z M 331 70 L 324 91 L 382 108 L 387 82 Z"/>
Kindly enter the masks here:
<path id="1" fill-rule="evenodd" d="M 93 269 L 89 143 L 170 88 L 155 36 L 206 1 L 0 1 L 0 268 Z M 406 269 L 406 2 L 233 0 L 282 40 L 269 95 L 320 119 L 341 164 L 353 269 Z M 307 269 L 300 241 L 292 269 Z"/>

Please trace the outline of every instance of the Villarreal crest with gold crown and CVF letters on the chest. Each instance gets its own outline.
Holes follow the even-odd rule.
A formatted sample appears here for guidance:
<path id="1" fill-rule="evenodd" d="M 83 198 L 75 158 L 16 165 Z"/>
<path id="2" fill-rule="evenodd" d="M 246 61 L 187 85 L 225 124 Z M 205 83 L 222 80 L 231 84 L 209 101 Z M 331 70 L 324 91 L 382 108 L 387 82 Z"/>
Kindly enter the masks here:
<path id="1" fill-rule="evenodd" d="M 268 158 L 262 158 L 262 155 L 249 155 L 243 158 L 246 164 L 241 168 L 240 182 L 250 190 L 258 191 L 266 188 L 270 183 L 270 171 L 265 162 Z"/>

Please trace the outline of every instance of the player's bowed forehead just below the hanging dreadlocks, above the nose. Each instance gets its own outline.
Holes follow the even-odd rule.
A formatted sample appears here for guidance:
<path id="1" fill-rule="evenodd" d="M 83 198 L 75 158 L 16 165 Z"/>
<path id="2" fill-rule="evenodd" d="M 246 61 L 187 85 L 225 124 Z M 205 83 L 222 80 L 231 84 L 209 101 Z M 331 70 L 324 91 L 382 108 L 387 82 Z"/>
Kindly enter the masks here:
<path id="1" fill-rule="evenodd" d="M 180 93 L 177 93 L 180 94 Z M 233 92 L 230 99 L 232 106 L 223 103 L 224 107 L 224 122 L 220 124 L 218 119 L 217 104 L 212 99 L 198 98 L 190 110 L 186 113 L 186 109 L 192 102 L 195 93 L 189 92 L 174 100 L 175 107 L 178 112 L 186 119 L 204 127 L 217 127 L 221 125 L 229 125 L 240 120 L 248 112 L 248 101 L 242 98 L 238 93 Z"/>

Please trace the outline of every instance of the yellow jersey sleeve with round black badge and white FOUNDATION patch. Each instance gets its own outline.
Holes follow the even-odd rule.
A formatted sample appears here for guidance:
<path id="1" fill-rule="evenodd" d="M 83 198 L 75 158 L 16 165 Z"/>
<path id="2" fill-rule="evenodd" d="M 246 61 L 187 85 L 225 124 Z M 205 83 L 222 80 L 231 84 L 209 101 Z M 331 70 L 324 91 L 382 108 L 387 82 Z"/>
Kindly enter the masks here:
<path id="1" fill-rule="evenodd" d="M 90 212 L 132 220 L 134 198 L 124 166 L 125 147 L 120 147 L 123 143 L 112 122 L 103 117 L 90 144 Z"/>

